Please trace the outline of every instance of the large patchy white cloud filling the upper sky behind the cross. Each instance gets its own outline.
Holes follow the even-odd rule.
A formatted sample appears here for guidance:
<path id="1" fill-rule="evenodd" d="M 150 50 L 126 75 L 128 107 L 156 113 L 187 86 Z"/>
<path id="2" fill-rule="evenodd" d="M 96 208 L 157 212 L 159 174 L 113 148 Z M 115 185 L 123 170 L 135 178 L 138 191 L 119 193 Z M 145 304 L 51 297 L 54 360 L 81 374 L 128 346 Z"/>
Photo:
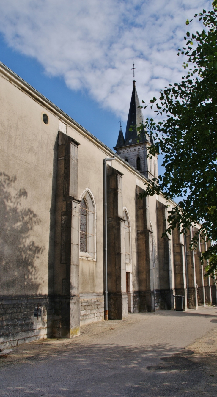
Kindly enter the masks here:
<path id="1" fill-rule="evenodd" d="M 86 89 L 101 106 L 126 119 L 132 63 L 140 100 L 183 74 L 177 49 L 186 19 L 209 0 L 7 0 L 0 31 L 11 47 L 35 57 L 71 89 Z M 195 19 L 191 30 L 201 30 Z M 188 29 L 189 29 L 188 28 Z"/>

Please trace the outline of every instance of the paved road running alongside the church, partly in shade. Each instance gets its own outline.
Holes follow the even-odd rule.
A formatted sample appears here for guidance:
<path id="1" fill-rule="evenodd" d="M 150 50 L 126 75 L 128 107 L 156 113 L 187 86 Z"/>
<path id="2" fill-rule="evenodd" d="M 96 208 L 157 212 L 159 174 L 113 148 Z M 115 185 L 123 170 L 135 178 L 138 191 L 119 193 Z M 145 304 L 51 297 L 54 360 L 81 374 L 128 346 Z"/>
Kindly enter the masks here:
<path id="1" fill-rule="evenodd" d="M 216 354 L 184 349 L 215 327 L 213 307 L 159 311 L 83 326 L 73 340 L 21 345 L 0 360 L 0 395 L 217 397 Z"/>

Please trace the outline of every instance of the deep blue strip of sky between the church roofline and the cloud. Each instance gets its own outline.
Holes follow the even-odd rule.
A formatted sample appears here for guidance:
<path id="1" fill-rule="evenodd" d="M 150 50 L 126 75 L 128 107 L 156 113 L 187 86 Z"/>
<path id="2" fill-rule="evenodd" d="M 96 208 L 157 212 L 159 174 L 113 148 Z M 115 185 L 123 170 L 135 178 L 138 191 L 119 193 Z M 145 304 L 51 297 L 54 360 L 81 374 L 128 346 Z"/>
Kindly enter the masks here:
<path id="1" fill-rule="evenodd" d="M 101 108 L 86 90 L 73 91 L 63 77 L 47 75 L 35 58 L 9 47 L 3 35 L 0 35 L 0 61 L 110 148 L 115 146 L 120 118 L 111 110 Z"/>

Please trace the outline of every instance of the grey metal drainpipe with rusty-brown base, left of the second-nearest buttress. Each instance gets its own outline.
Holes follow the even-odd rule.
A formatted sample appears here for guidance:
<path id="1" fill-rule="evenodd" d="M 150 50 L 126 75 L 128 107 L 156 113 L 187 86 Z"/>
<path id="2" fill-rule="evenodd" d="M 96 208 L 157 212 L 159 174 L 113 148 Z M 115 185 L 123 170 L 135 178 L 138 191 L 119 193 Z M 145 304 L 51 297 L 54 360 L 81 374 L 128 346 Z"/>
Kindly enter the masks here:
<path id="1" fill-rule="evenodd" d="M 103 173 L 104 173 L 104 272 L 105 272 L 105 320 L 108 320 L 108 266 L 107 266 L 107 161 L 115 159 L 104 158 Z"/>

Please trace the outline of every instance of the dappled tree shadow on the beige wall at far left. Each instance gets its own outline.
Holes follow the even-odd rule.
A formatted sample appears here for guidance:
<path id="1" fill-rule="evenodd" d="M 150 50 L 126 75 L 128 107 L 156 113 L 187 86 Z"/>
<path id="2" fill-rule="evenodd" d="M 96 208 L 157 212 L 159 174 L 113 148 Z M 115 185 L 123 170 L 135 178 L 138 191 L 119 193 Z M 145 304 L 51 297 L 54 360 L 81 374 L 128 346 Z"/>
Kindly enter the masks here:
<path id="1" fill-rule="evenodd" d="M 33 295 L 38 291 L 35 260 L 44 251 L 31 239 L 31 231 L 40 223 L 38 215 L 23 202 L 24 188 L 15 188 L 12 178 L 0 172 L 0 294 Z"/>

